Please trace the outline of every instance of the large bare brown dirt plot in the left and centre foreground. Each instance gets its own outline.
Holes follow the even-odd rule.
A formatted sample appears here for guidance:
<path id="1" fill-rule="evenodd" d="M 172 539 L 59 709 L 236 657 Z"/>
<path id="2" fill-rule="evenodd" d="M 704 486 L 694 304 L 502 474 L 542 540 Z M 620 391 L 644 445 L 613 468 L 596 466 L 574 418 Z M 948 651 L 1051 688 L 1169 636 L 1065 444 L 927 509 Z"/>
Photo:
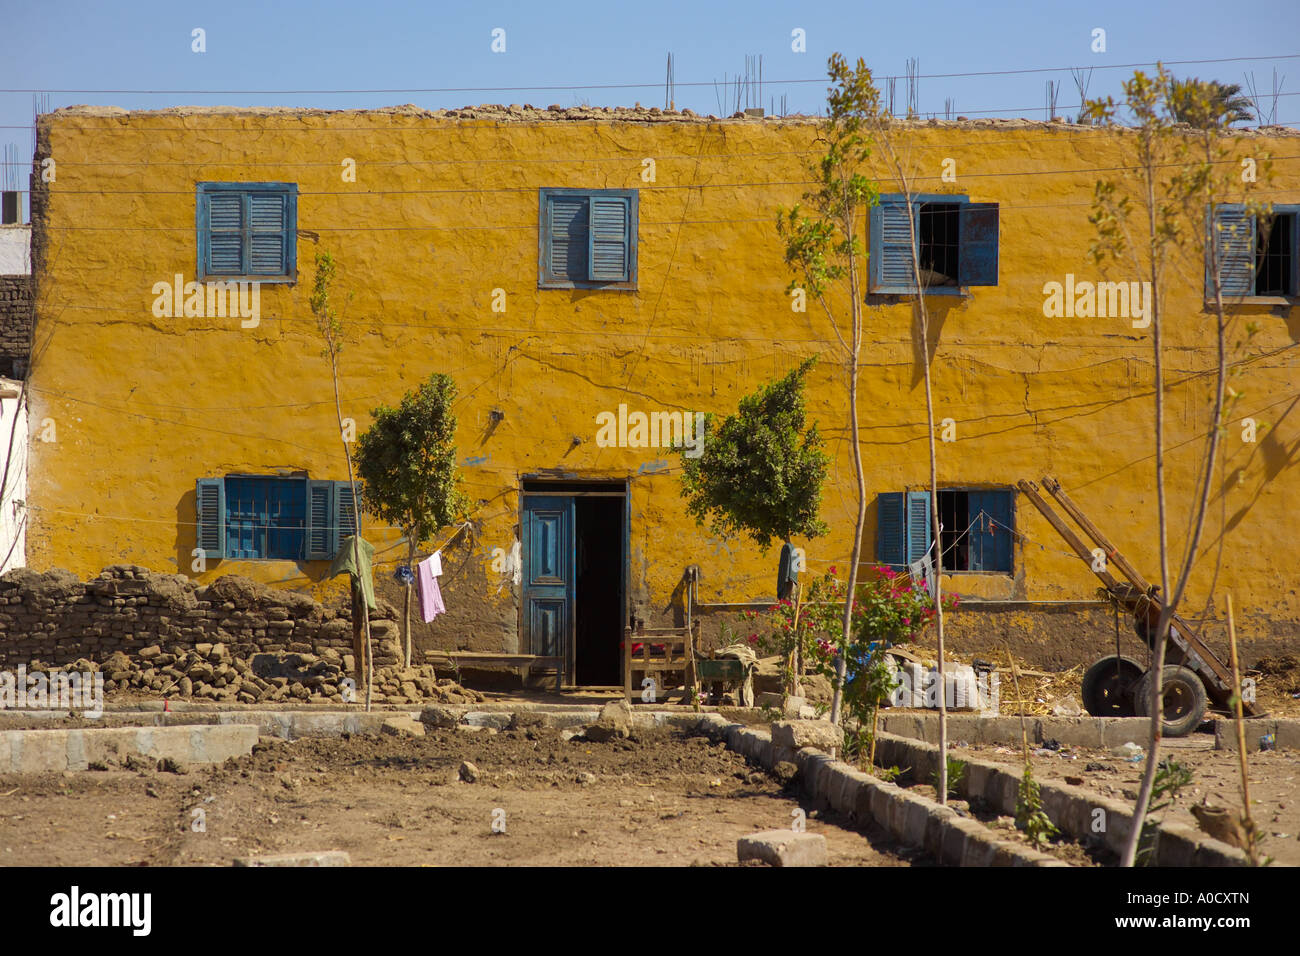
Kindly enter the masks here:
<path id="1" fill-rule="evenodd" d="M 458 779 L 462 761 L 477 782 Z M 354 865 L 736 865 L 740 836 L 789 827 L 797 808 L 781 780 L 677 731 L 602 744 L 541 727 L 264 739 L 179 774 L 0 775 L 0 865 L 225 866 L 321 849 Z M 927 862 L 878 829 L 802 809 L 835 866 Z"/>

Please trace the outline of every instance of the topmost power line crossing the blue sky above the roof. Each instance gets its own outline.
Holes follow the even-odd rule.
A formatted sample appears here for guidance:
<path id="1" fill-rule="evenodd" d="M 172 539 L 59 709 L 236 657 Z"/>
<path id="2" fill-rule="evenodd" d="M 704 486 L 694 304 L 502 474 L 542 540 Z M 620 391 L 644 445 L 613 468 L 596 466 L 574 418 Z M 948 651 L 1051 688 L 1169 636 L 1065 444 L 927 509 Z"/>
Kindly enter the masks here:
<path id="1" fill-rule="evenodd" d="M 915 79 L 956 79 L 966 77 L 1010 77 L 1010 75 L 1026 75 L 1034 73 L 1067 73 L 1071 69 L 1093 69 L 1093 70 L 1127 70 L 1135 69 L 1138 66 L 1153 66 L 1156 62 L 1162 62 L 1165 66 L 1192 66 L 1201 64 L 1219 64 L 1219 62 L 1258 62 L 1265 60 L 1296 60 L 1300 59 L 1300 53 L 1283 53 L 1279 56 L 1223 56 L 1212 57 L 1205 60 L 1143 60 L 1140 62 L 1127 62 L 1127 64 L 1101 64 L 1101 65 L 1088 65 L 1088 66 L 1036 66 L 1028 69 L 1017 70 L 975 70 L 971 73 L 922 73 L 916 74 Z M 884 77 L 883 79 L 897 79 L 897 77 Z M 764 85 L 777 85 L 777 86 L 793 86 L 801 83 L 826 83 L 827 77 L 815 77 L 811 79 L 763 79 Z M 692 81 L 692 82 L 675 82 L 675 86 L 694 86 L 694 87 L 712 87 L 716 81 Z M 655 79 L 649 83 L 577 83 L 569 86 L 448 86 L 448 87 L 390 87 L 390 88 L 374 88 L 374 90 L 53 90 L 53 88 L 0 88 L 0 94 L 130 94 L 142 96 L 155 96 L 155 95 L 231 95 L 231 96 L 260 96 L 260 95 L 339 95 L 339 94 L 358 94 L 358 95 L 381 95 L 381 94 L 447 94 L 447 92 L 566 92 L 569 90 L 658 90 L 663 85 L 662 79 Z M 1035 109 L 1041 109 L 1041 107 L 1035 107 Z"/>

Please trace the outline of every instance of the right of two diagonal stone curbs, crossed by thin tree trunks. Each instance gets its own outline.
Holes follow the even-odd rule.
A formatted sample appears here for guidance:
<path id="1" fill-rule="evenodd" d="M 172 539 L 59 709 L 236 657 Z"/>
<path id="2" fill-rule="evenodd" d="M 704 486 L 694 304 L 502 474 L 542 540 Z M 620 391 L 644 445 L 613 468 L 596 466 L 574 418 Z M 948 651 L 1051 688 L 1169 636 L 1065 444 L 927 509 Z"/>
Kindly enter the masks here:
<path id="1" fill-rule="evenodd" d="M 910 767 L 913 779 L 930 779 L 939 769 L 939 747 L 893 734 L 876 736 L 876 758 Z M 1000 813 L 1014 816 L 1020 773 L 1005 763 L 963 760 L 966 775 L 958 790 L 967 799 L 982 797 Z M 1114 853 L 1123 852 L 1132 826 L 1132 808 L 1067 783 L 1039 780 L 1043 809 L 1066 836 L 1079 842 L 1101 839 Z M 1098 810 L 1101 813 L 1098 813 Z M 1104 821 L 1101 832 L 1093 830 Z M 1245 853 L 1182 823 L 1157 827 L 1152 864 L 1156 866 L 1245 866 Z"/>

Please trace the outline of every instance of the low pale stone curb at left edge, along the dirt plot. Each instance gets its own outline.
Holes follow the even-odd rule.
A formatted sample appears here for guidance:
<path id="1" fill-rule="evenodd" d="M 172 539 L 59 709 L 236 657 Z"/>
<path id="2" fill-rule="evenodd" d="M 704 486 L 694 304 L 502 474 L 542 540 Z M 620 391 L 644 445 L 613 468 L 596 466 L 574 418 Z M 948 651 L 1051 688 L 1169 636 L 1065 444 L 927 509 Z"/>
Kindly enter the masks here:
<path id="1" fill-rule="evenodd" d="M 0 773 L 86 770 L 126 754 L 181 763 L 220 763 L 242 757 L 257 743 L 252 723 L 194 727 L 109 727 L 103 730 L 0 731 Z"/>

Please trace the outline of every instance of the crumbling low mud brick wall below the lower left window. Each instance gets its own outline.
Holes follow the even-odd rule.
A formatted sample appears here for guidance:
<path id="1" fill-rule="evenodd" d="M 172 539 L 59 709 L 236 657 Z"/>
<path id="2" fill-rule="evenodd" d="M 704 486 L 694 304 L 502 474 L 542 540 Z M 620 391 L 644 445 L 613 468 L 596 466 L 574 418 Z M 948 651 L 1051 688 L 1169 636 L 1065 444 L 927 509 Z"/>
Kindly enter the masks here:
<path id="1" fill-rule="evenodd" d="M 381 606 L 377 617 L 374 663 L 398 663 L 394 611 Z M 62 570 L 17 568 L 0 578 L 0 669 L 198 644 L 225 644 L 240 658 L 326 649 L 350 656 L 351 614 L 235 575 L 200 587 L 183 575 L 114 564 L 88 581 Z"/>

